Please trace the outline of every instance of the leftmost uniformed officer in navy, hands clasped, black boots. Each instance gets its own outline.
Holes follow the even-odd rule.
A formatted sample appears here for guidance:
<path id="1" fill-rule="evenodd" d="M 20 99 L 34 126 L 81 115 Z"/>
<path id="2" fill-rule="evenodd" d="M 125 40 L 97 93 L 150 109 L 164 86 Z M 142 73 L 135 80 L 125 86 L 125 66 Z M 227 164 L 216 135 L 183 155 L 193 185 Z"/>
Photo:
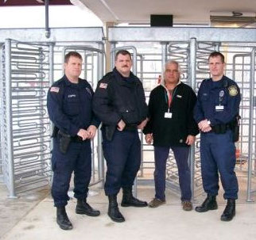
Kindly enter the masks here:
<path id="1" fill-rule="evenodd" d="M 65 206 L 68 204 L 69 182 L 74 172 L 76 213 L 90 216 L 99 211 L 87 204 L 91 180 L 91 139 L 99 120 L 91 109 L 93 91 L 90 84 L 79 78 L 82 56 L 70 51 L 64 58 L 64 76 L 48 90 L 48 115 L 54 124 L 52 150 L 52 197 L 57 209 L 56 221 L 63 230 L 71 230 Z"/>

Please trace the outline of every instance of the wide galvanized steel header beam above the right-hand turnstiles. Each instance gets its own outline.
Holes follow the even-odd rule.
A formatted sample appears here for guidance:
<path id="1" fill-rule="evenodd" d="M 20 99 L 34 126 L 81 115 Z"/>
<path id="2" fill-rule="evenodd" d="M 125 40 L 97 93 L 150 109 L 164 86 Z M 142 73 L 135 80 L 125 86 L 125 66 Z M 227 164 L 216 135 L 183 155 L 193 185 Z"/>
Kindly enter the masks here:
<path id="1" fill-rule="evenodd" d="M 231 28 L 109 28 L 110 42 L 197 41 L 255 43 L 255 29 Z"/>

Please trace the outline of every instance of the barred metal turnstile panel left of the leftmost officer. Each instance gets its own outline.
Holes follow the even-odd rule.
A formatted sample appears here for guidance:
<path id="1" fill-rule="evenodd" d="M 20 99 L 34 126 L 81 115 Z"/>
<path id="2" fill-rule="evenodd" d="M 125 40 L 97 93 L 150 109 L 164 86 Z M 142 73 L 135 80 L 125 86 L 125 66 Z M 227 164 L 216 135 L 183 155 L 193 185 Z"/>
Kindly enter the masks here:
<path id="1" fill-rule="evenodd" d="M 48 185 L 51 176 L 48 46 L 6 41 L 3 170 L 10 196 Z M 7 69 L 8 68 L 8 69 Z"/>

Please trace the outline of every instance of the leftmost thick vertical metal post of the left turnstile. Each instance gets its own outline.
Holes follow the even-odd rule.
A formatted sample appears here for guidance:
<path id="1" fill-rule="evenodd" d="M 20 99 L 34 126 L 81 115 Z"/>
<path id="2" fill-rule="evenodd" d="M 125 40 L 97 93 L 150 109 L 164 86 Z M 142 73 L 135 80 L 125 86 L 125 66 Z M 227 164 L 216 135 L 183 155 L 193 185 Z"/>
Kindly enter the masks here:
<path id="1" fill-rule="evenodd" d="M 13 120 L 12 120 L 12 82 L 11 82 L 11 40 L 6 39 L 6 134 L 7 158 L 9 162 L 9 197 L 14 198 L 14 152 L 13 152 Z"/>

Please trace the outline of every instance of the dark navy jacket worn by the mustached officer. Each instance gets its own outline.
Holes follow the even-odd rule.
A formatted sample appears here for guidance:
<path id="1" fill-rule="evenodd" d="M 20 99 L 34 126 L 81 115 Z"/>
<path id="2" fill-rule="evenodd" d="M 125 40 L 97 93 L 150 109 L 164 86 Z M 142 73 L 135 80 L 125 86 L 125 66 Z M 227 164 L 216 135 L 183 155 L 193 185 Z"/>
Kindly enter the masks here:
<path id="1" fill-rule="evenodd" d="M 115 129 L 121 119 L 127 126 L 137 126 L 147 116 L 142 82 L 132 72 L 129 78 L 124 78 L 114 68 L 98 83 L 93 111 L 103 122 L 103 127 Z"/>

